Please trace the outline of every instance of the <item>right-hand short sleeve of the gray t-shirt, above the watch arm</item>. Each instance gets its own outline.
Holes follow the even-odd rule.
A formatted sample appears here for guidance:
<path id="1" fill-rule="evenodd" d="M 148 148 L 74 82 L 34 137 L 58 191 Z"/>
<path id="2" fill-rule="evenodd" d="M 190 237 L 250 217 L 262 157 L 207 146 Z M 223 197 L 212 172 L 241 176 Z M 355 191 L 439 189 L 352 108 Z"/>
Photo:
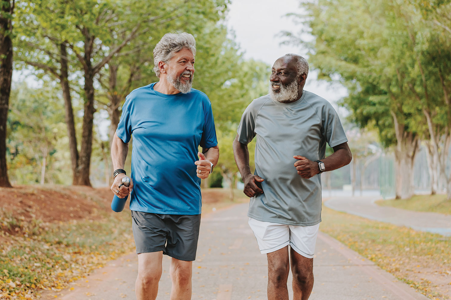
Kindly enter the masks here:
<path id="1" fill-rule="evenodd" d="M 329 147 L 332 148 L 348 141 L 337 112 L 328 102 L 322 110 L 322 128 Z"/>

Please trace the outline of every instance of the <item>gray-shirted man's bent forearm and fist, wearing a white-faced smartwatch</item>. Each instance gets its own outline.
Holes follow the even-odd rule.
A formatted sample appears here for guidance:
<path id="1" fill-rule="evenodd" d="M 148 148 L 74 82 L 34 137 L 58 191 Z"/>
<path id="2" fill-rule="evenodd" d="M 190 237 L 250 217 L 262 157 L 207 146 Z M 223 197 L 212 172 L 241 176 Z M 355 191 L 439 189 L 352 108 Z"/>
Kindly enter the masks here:
<path id="1" fill-rule="evenodd" d="M 346 166 L 352 160 L 352 153 L 347 142 L 336 145 L 332 149 L 334 152 L 321 160 L 326 167 L 324 171 L 336 170 Z M 295 162 L 295 167 L 302 178 L 308 179 L 319 173 L 319 166 L 316 161 L 311 161 L 301 155 L 295 155 L 294 158 L 298 160 Z"/>

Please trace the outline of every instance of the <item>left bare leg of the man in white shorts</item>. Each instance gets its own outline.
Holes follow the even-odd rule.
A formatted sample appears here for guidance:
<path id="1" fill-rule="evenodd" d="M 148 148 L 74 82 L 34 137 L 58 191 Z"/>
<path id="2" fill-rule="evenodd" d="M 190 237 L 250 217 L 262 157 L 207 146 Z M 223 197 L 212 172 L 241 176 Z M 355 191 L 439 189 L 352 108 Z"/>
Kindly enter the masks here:
<path id="1" fill-rule="evenodd" d="M 288 300 L 286 281 L 290 272 L 288 246 L 267 254 L 268 300 Z"/>

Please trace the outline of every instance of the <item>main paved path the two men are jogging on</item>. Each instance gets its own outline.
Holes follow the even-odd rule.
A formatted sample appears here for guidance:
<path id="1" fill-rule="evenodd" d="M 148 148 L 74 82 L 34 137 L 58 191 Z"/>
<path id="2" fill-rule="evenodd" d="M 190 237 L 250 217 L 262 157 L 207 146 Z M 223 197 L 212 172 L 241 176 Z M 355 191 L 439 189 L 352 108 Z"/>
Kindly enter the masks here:
<path id="1" fill-rule="evenodd" d="M 267 260 L 247 224 L 247 204 L 202 218 L 198 256 L 193 263 L 193 300 L 267 299 Z M 163 256 L 157 300 L 168 300 L 170 259 Z M 320 233 L 313 261 L 315 284 L 310 300 L 426 300 L 405 283 L 336 240 Z M 135 299 L 137 255 L 131 253 L 74 282 L 73 290 L 47 293 L 42 299 Z M 86 280 L 88 282 L 86 282 Z M 292 291 L 289 293 L 292 299 Z"/>

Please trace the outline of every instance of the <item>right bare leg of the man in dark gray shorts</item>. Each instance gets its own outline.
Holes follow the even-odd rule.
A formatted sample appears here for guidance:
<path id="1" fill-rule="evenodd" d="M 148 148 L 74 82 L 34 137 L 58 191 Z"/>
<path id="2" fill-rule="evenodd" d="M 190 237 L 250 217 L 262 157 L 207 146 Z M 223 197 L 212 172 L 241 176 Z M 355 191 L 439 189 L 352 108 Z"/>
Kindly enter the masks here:
<path id="1" fill-rule="evenodd" d="M 172 258 L 169 273 L 172 281 L 170 300 L 190 300 L 193 262 Z"/>

